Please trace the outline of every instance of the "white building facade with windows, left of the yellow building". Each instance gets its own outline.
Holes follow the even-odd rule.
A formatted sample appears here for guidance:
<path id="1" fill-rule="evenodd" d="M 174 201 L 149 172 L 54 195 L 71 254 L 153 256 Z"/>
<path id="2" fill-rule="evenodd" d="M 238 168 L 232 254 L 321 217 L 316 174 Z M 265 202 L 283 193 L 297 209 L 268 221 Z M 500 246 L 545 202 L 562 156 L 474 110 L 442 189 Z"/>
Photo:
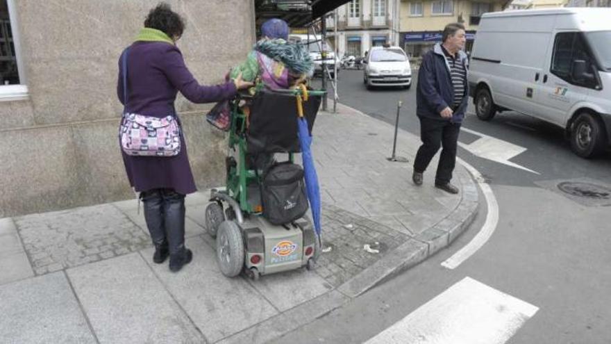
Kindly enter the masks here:
<path id="1" fill-rule="evenodd" d="M 335 21 L 326 19 L 327 37 L 338 56 L 364 56 L 371 47 L 382 44 L 399 44 L 399 0 L 352 0 L 335 10 Z"/>

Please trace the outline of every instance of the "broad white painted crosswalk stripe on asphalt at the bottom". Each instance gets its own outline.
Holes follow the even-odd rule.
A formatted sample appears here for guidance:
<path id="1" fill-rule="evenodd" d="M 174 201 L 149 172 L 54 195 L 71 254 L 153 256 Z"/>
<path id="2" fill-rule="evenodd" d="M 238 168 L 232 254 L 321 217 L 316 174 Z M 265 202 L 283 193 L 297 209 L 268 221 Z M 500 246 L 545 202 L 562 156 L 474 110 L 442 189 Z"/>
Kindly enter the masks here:
<path id="1" fill-rule="evenodd" d="M 465 277 L 365 344 L 503 344 L 538 310 Z"/>

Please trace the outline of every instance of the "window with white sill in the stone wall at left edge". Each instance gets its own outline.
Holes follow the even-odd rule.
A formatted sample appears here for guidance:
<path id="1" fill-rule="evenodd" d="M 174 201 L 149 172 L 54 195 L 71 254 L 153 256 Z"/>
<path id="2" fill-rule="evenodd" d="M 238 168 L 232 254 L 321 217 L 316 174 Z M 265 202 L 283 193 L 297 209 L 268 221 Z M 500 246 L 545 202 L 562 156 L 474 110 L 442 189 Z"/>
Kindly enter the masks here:
<path id="1" fill-rule="evenodd" d="M 15 0 L 0 0 L 0 101 L 26 99 L 27 87 L 20 68 Z"/>

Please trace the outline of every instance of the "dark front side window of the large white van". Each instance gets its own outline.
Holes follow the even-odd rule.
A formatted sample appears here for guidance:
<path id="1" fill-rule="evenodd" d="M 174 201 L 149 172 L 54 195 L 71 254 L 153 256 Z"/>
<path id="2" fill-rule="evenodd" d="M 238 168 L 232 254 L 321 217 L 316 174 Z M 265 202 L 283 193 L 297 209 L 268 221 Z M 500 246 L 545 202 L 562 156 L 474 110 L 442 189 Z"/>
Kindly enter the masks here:
<path id="1" fill-rule="evenodd" d="M 587 79 L 573 79 L 573 61 L 585 61 L 586 70 L 589 73 Z M 551 60 L 550 72 L 560 79 L 587 88 L 596 88 L 594 78 L 594 60 L 589 54 L 582 35 L 579 33 L 558 33 L 554 41 L 554 50 Z"/>

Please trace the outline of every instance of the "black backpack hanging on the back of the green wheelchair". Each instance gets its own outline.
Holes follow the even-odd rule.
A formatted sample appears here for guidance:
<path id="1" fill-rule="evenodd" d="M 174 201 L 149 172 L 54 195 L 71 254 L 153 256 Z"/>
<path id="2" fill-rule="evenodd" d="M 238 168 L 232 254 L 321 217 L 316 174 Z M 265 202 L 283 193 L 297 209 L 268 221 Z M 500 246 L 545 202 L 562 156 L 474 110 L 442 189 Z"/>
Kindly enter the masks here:
<path id="1" fill-rule="evenodd" d="M 303 169 L 290 162 L 271 165 L 261 183 L 263 216 L 271 224 L 286 224 L 308 211 Z"/>

